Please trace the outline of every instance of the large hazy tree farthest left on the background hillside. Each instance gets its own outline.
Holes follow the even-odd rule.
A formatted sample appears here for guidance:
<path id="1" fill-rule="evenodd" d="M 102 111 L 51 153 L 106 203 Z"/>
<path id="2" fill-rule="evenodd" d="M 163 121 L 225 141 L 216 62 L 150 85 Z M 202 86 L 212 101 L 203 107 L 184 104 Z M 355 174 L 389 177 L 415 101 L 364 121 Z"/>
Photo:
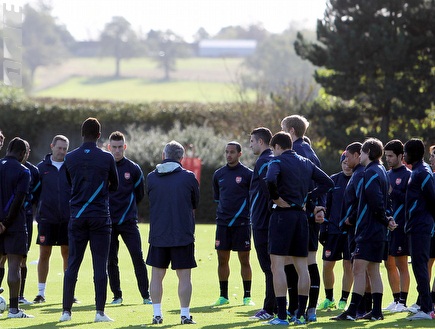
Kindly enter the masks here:
<path id="1" fill-rule="evenodd" d="M 69 56 L 64 41 L 74 39 L 63 26 L 57 25 L 51 7 L 43 2 L 37 9 L 25 5 L 23 13 L 23 61 L 29 69 L 31 85 L 38 67 L 59 64 Z"/>

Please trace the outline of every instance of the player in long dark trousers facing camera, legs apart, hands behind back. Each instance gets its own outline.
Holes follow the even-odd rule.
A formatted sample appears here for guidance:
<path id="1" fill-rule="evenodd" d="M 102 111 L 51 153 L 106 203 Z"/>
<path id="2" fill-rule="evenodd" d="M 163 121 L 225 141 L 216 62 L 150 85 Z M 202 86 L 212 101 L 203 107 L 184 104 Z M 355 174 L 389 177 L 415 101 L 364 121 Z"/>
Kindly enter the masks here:
<path id="1" fill-rule="evenodd" d="M 111 304 L 122 303 L 122 290 L 119 279 L 118 250 L 119 236 L 125 243 L 133 262 L 134 273 L 144 304 L 151 304 L 148 291 L 148 273 L 143 259 L 142 241 L 137 226 L 137 204 L 145 195 L 142 170 L 137 163 L 124 156 L 127 144 L 124 134 L 115 131 L 109 136 L 108 149 L 116 161 L 118 171 L 118 190 L 110 192 L 109 207 L 112 219 L 112 238 L 110 241 L 109 274 L 110 289 L 113 292 Z"/>

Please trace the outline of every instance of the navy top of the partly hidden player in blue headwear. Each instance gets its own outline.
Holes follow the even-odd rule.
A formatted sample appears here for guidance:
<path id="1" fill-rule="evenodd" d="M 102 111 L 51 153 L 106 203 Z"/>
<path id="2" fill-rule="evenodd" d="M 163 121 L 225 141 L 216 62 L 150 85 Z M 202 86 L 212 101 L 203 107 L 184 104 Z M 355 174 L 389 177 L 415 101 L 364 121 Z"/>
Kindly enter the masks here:
<path id="1" fill-rule="evenodd" d="M 331 175 L 334 182 L 334 189 L 329 191 L 326 196 L 325 225 L 328 226 L 329 234 L 341 234 L 340 221 L 344 199 L 344 192 L 351 176 L 346 176 L 344 172 Z M 322 228 L 323 229 L 323 228 Z"/>

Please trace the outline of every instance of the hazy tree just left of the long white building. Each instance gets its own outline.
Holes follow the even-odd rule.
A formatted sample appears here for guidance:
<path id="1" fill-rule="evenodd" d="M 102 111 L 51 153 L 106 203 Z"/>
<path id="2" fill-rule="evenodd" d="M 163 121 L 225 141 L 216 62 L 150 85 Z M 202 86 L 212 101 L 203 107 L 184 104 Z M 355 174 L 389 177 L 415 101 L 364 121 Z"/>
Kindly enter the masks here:
<path id="1" fill-rule="evenodd" d="M 165 81 L 170 80 L 170 73 L 175 71 L 177 57 L 185 57 L 191 53 L 186 42 L 171 30 L 150 30 L 147 38 L 151 56 L 163 69 Z"/>

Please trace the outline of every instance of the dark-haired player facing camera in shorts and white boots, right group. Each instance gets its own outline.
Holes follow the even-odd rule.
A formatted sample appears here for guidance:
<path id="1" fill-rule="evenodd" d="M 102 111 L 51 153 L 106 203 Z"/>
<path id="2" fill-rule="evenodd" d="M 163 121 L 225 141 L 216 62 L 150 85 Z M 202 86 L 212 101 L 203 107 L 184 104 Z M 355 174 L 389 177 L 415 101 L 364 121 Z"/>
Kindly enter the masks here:
<path id="1" fill-rule="evenodd" d="M 385 144 L 385 160 L 390 170 L 387 172 L 390 183 L 390 199 L 397 230 L 390 233 L 388 259 L 385 267 L 394 300 L 385 308 L 390 312 L 407 310 L 406 300 L 409 290 L 408 243 L 405 235 L 405 195 L 411 170 L 403 164 L 403 143 L 393 139 Z"/>

